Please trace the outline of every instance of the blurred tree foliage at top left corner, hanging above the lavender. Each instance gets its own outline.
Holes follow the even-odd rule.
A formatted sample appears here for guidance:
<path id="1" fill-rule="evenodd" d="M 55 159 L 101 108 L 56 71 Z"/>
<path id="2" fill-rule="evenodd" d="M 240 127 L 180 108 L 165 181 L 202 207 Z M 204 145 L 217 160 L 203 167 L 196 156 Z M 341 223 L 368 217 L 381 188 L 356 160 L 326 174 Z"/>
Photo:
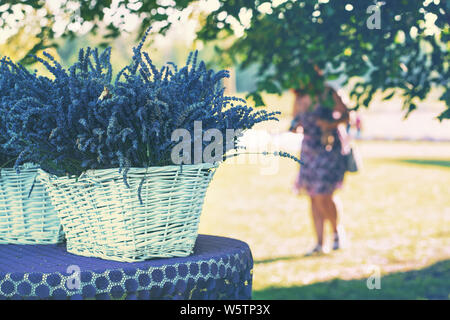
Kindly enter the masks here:
<path id="1" fill-rule="evenodd" d="M 34 61 L 29 58 L 30 55 L 49 47 L 57 47 L 57 38 L 74 38 L 80 30 L 95 34 L 100 26 L 103 27 L 107 32 L 103 36 L 105 41 L 100 45 L 106 46 L 110 40 L 120 35 L 126 19 L 130 17 L 140 20 L 138 38 L 155 22 L 161 23 L 160 31 L 164 32 L 170 26 L 169 14 L 185 9 L 191 2 L 192 0 L 0 1 L 0 35 L 20 34 L 26 26 L 38 29 L 32 34 L 32 47 L 27 46 L 21 57 L 21 63 L 29 64 Z M 115 16 L 115 19 L 106 19 L 108 15 Z M 27 20 L 31 16 L 35 18 L 32 26 L 29 25 L 30 19 Z M 0 41 L 1 38 L 3 37 L 0 37 Z"/>

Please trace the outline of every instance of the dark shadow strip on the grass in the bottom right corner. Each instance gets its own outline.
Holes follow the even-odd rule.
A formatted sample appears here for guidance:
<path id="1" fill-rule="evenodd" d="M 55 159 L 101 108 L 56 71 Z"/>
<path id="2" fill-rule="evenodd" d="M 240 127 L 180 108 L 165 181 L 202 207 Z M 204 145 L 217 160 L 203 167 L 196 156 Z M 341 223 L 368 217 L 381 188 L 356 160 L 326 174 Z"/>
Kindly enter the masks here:
<path id="1" fill-rule="evenodd" d="M 253 291 L 253 299 L 450 299 L 450 260 L 427 268 L 381 277 L 381 289 L 369 290 L 367 279 L 334 279 L 304 286 Z"/>

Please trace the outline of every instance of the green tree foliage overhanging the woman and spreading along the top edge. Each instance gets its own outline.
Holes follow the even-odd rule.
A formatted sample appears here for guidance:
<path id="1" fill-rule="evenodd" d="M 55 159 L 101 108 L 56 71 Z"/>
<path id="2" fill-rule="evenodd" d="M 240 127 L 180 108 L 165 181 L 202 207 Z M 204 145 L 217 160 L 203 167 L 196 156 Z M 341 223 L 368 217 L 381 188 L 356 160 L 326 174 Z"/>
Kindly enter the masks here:
<path id="1" fill-rule="evenodd" d="M 222 63 L 258 66 L 257 90 L 249 94 L 257 105 L 264 104 L 262 91 L 295 88 L 317 94 L 324 85 L 318 67 L 327 79 L 357 79 L 351 82 L 350 93 L 357 107 L 368 106 L 377 91 L 385 99 L 398 93 L 409 114 L 431 88 L 443 88 L 440 99 L 447 109 L 439 119 L 450 118 L 449 1 L 214 1 L 218 5 L 205 12 L 198 38 L 220 44 L 217 53 Z M 170 10 L 183 10 L 194 2 L 123 0 L 119 6 L 141 17 L 142 34 L 155 21 L 163 23 L 164 31 L 170 26 Z M 22 2 L 9 3 L 6 10 Z M 64 10 L 69 10 L 68 3 Z M 80 4 L 71 20 L 94 22 L 95 32 L 96 22 L 104 18 L 112 2 L 84 0 Z M 31 0 L 27 5 L 39 10 L 45 1 Z M 120 25 L 106 27 L 107 37 L 119 35 Z M 66 29 L 63 35 L 73 37 L 74 32 Z M 31 52 L 53 45 L 54 36 L 51 26 L 44 26 Z"/>

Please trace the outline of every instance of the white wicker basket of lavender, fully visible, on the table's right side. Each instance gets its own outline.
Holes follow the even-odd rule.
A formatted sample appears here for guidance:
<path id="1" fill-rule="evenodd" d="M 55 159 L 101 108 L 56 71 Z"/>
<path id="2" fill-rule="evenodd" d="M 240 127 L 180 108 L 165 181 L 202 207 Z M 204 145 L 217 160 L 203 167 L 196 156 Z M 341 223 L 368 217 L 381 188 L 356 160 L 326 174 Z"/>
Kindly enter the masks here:
<path id="1" fill-rule="evenodd" d="M 118 169 L 89 170 L 78 179 L 42 171 L 40 180 L 61 219 L 68 252 L 133 262 L 192 253 L 216 168 L 208 163 L 131 168 L 129 188 Z"/>

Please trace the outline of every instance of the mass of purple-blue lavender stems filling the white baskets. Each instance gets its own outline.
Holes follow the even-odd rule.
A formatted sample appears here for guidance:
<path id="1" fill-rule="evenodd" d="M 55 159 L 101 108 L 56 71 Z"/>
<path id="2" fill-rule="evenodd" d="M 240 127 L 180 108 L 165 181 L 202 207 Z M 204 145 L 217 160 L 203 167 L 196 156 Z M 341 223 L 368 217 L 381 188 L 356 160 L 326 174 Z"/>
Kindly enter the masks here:
<path id="1" fill-rule="evenodd" d="M 194 121 L 225 136 L 227 129 L 277 119 L 278 112 L 255 112 L 245 100 L 225 96 L 222 79 L 228 72 L 207 69 L 197 52 L 180 69 L 172 63 L 158 69 L 142 51 L 147 34 L 115 79 L 110 48 L 80 50 L 68 70 L 48 53 L 46 59 L 35 57 L 53 79 L 1 61 L 0 84 L 10 92 L 0 105 L 2 150 L 17 157 L 16 168 L 34 162 L 56 175 L 79 175 L 119 167 L 126 182 L 130 167 L 172 164 L 175 129 L 188 130 L 194 145 Z M 223 154 L 237 148 L 237 138 Z"/>

